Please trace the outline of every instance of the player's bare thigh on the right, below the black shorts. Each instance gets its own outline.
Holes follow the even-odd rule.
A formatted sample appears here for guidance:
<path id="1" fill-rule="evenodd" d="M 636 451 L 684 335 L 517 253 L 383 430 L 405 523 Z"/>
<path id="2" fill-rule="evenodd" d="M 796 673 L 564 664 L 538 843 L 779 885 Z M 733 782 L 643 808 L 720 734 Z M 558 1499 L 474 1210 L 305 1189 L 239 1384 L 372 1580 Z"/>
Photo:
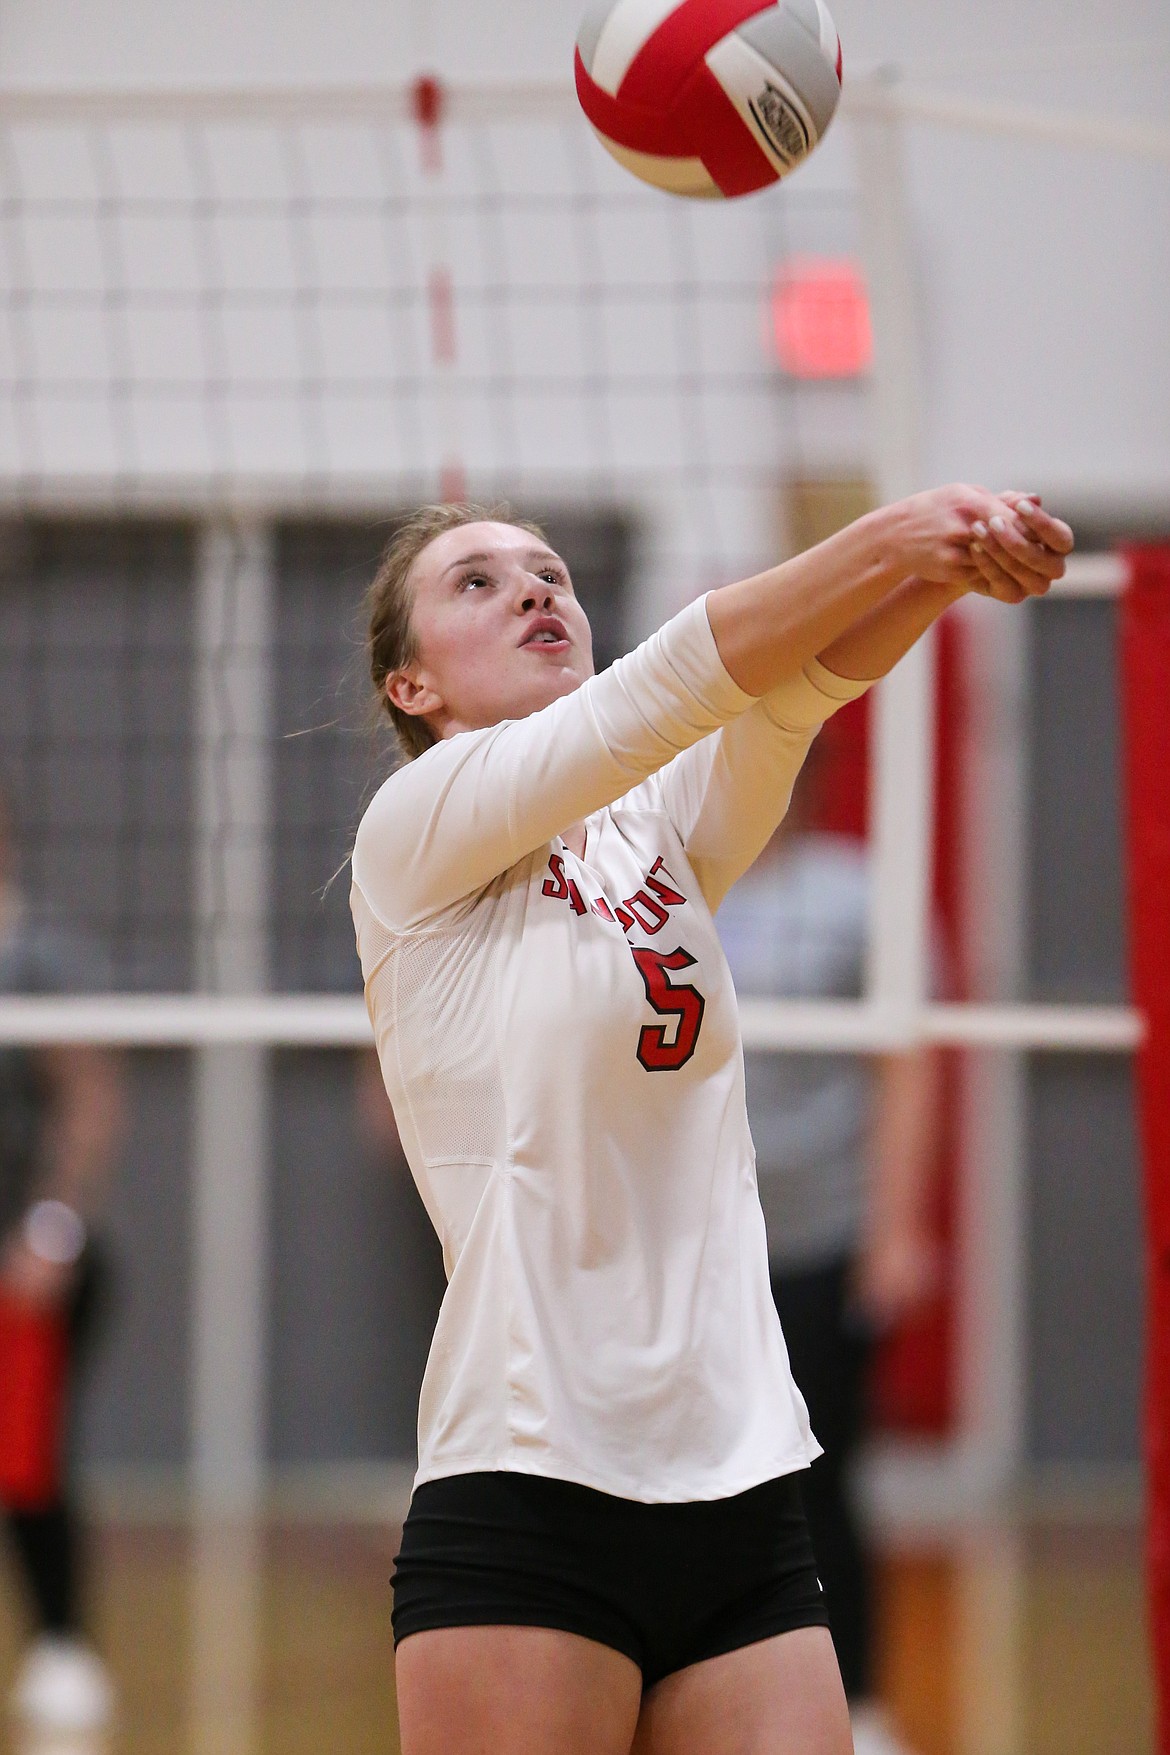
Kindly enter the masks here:
<path id="1" fill-rule="evenodd" d="M 828 1629 L 798 1627 L 665 1676 L 642 1702 L 633 1755 L 853 1755 Z"/>

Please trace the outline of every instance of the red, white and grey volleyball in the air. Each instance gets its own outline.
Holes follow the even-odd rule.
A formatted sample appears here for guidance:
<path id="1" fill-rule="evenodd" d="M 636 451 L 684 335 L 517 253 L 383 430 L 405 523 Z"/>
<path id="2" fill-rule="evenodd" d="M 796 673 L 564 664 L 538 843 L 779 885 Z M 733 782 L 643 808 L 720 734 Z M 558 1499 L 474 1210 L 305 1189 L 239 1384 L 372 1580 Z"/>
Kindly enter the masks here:
<path id="1" fill-rule="evenodd" d="M 672 195 L 777 183 L 840 97 L 840 37 L 823 0 L 598 0 L 575 65 L 602 146 Z"/>

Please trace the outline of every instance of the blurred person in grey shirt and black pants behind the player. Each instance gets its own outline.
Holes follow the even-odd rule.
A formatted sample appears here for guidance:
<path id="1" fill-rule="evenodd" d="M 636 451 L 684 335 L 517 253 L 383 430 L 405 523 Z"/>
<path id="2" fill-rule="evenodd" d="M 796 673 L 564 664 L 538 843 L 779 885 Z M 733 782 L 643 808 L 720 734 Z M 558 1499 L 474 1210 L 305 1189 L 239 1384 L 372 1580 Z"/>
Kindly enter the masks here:
<path id="1" fill-rule="evenodd" d="M 814 742 L 788 816 L 719 909 L 744 997 L 863 995 L 868 862 L 814 828 L 824 762 Z M 874 1697 L 874 1560 L 849 1476 L 874 1344 L 937 1283 L 938 1055 L 749 1053 L 746 1074 L 772 1295 L 824 1446 L 802 1490 L 856 1755 L 909 1755 Z"/>

